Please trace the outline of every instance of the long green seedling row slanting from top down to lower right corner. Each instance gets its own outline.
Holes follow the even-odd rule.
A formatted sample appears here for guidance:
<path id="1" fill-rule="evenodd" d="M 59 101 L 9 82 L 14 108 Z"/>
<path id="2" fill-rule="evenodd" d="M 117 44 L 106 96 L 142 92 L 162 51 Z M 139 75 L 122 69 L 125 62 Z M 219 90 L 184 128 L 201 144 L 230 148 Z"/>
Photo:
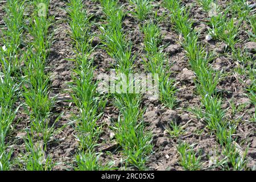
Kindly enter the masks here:
<path id="1" fill-rule="evenodd" d="M 187 52 L 189 64 L 196 74 L 197 92 L 201 96 L 202 103 L 202 111 L 197 111 L 197 115 L 199 118 L 203 118 L 208 129 L 216 134 L 218 142 L 223 148 L 222 153 L 226 157 L 222 163 L 218 162 L 216 165 L 223 164 L 224 168 L 229 168 L 231 165 L 233 169 L 245 169 L 245 155 L 240 155 L 232 138 L 236 126 L 226 121 L 225 110 L 221 107 L 221 96 L 216 92 L 220 73 L 214 71 L 209 65 L 213 55 L 205 52 L 203 45 L 199 43 L 198 32 L 193 30 L 193 22 L 189 18 L 188 9 L 182 6 L 180 1 L 174 0 L 164 1 L 164 6 L 171 13 L 175 30 L 183 36 L 182 46 Z M 179 147 L 178 151 L 180 151 Z"/>

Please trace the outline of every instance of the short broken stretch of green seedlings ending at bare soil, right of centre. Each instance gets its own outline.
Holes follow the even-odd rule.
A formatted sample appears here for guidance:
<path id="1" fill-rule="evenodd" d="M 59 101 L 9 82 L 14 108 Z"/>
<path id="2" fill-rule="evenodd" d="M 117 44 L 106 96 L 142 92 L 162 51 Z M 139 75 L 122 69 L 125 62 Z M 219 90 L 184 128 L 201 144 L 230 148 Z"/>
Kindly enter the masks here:
<path id="1" fill-rule="evenodd" d="M 158 74 L 159 84 L 159 99 L 170 109 L 173 109 L 177 104 L 175 97 L 176 88 L 175 80 L 170 78 L 170 66 L 168 57 L 163 53 L 163 47 L 159 46 L 162 42 L 162 35 L 157 24 L 146 23 L 142 27 L 144 34 L 144 50 L 146 51 L 147 61 L 144 65 L 152 74 Z"/>

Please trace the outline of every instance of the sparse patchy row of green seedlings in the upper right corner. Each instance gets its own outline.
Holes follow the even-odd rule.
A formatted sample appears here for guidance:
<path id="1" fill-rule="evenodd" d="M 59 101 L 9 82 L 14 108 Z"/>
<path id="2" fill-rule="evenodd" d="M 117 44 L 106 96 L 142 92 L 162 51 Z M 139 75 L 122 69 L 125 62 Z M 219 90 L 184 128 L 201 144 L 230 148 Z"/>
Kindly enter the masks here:
<path id="1" fill-rule="evenodd" d="M 253 60 L 253 55 L 250 55 L 245 47 L 237 46 L 237 44 L 244 41 L 240 39 L 240 35 L 241 30 L 246 27 L 251 27 L 251 31 L 248 31 L 247 34 L 249 40 L 255 42 L 256 21 L 253 7 L 249 6 L 245 0 L 231 1 L 225 10 L 222 10 L 216 4 L 214 4 L 214 7 L 216 9 L 215 14 L 212 14 L 209 18 L 209 35 L 214 40 L 226 43 L 225 53 L 231 53 L 232 59 L 238 61 L 240 65 L 234 71 L 239 75 L 245 75 L 251 80 L 251 84 L 246 85 L 247 96 L 250 98 L 251 104 L 255 106 L 255 61 Z M 251 119 L 256 121 L 255 114 Z"/>

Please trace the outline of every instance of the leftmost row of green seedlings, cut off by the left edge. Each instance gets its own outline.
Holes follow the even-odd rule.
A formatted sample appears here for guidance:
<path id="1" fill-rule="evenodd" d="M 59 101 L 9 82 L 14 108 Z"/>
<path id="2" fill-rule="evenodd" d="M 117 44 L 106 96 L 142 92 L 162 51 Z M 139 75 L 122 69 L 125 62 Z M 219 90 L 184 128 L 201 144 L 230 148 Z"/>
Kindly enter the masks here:
<path id="1" fill-rule="evenodd" d="M 22 44 L 24 1 L 8 0 L 5 4 L 5 26 L 2 27 L 0 48 L 0 170 L 13 167 L 6 137 L 13 128 L 19 109 L 20 96 L 20 46 Z"/>

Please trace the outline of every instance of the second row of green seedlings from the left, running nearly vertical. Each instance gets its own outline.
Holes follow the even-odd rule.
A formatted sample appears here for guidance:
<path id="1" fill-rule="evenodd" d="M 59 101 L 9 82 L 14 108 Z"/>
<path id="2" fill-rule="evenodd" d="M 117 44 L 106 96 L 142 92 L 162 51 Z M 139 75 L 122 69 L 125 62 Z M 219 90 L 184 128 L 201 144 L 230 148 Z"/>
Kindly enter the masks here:
<path id="1" fill-rule="evenodd" d="M 26 150 L 22 154 L 20 168 L 28 171 L 46 171 L 55 165 L 47 154 L 47 144 L 54 133 L 55 122 L 52 123 L 51 115 L 55 98 L 49 97 L 51 83 L 45 71 L 52 43 L 49 28 L 53 17 L 49 16 L 49 0 L 29 1 L 26 6 L 31 8 L 26 25 L 31 41 L 23 57 L 22 96 L 30 124 L 26 129 Z"/>

